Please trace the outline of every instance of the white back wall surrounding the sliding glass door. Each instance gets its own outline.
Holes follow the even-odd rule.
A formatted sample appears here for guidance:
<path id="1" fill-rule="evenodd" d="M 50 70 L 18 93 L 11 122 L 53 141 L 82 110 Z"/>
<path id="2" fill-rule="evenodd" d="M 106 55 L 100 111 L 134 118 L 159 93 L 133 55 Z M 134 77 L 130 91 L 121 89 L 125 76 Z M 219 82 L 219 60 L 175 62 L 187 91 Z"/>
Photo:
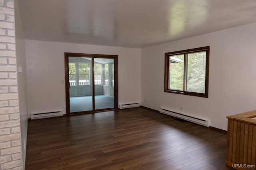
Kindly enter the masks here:
<path id="1" fill-rule="evenodd" d="M 140 49 L 26 40 L 28 114 L 66 113 L 64 53 L 118 55 L 119 103 L 140 101 Z"/>

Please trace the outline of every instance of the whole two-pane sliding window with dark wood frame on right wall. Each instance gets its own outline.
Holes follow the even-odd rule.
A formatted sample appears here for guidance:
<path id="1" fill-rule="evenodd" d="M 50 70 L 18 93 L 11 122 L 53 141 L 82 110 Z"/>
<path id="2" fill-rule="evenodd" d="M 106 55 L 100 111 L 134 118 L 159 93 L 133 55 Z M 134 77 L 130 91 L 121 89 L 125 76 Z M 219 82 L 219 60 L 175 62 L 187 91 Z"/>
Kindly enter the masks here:
<path id="1" fill-rule="evenodd" d="M 208 98 L 210 46 L 165 53 L 164 92 Z"/>

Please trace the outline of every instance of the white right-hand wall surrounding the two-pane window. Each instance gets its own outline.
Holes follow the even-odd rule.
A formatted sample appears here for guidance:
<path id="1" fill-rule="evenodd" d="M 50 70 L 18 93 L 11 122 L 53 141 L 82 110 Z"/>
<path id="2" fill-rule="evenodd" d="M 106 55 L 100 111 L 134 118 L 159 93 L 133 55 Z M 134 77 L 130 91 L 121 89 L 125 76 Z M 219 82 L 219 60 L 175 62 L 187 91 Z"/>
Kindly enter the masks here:
<path id="1" fill-rule="evenodd" d="M 256 109 L 256 23 L 141 49 L 141 104 L 210 119 L 227 130 L 227 115 Z M 210 45 L 209 97 L 164 92 L 164 53 Z M 146 99 L 146 102 L 144 102 Z"/>

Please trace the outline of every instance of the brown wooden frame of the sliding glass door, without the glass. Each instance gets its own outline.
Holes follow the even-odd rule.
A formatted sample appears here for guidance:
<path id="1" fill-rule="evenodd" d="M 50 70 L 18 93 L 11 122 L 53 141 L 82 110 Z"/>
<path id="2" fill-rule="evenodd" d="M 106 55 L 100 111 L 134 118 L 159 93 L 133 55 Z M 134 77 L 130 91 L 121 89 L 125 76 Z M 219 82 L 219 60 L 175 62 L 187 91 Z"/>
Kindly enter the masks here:
<path id="1" fill-rule="evenodd" d="M 111 109 L 97 109 L 95 110 L 95 99 L 92 98 L 93 102 L 93 110 L 90 111 L 80 111 L 70 113 L 70 95 L 69 95 L 69 72 L 68 72 L 68 57 L 90 57 L 92 58 L 92 64 L 94 63 L 94 58 L 105 58 L 105 59 L 114 59 L 114 108 Z M 92 65 L 92 68 L 94 66 Z M 92 74 L 94 74 L 94 69 L 92 69 Z M 92 76 L 92 96 L 95 96 L 94 91 L 94 76 Z M 85 54 L 85 53 L 65 53 L 65 89 L 66 89 L 66 114 L 74 115 L 74 114 L 84 114 L 84 113 L 95 113 L 100 111 L 109 111 L 118 109 L 118 55 L 102 55 L 102 54 Z"/>

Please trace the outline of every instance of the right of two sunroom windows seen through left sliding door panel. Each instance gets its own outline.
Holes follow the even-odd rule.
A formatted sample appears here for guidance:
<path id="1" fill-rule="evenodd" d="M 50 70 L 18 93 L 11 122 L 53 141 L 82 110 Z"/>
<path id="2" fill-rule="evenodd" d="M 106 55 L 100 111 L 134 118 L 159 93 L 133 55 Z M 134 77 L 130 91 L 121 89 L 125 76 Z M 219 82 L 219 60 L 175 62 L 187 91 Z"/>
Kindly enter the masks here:
<path id="1" fill-rule="evenodd" d="M 79 85 L 89 85 L 89 64 L 79 63 L 78 72 Z"/>

